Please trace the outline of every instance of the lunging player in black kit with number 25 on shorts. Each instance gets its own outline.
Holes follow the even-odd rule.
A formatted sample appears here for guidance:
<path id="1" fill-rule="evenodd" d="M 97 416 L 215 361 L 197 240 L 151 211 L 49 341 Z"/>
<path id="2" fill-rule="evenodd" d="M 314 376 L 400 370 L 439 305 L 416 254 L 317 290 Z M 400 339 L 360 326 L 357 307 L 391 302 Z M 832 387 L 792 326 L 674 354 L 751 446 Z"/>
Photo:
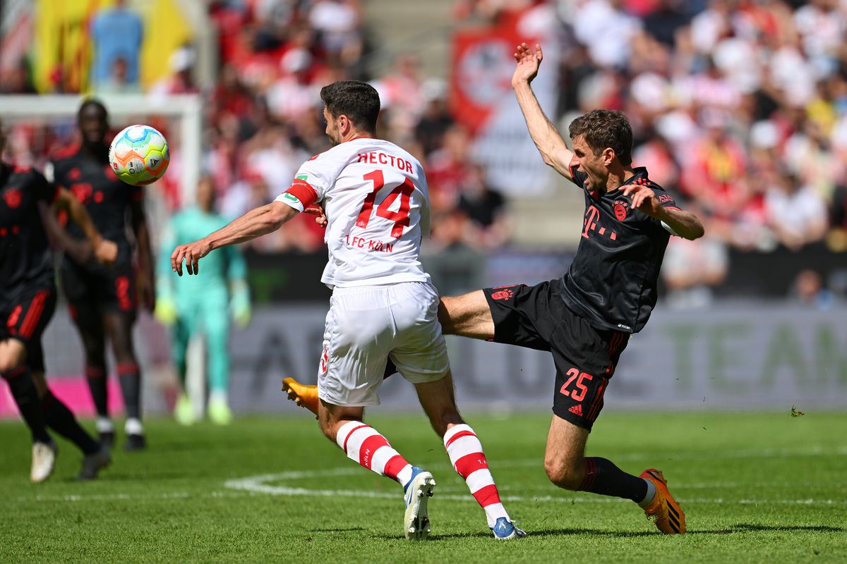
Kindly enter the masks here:
<path id="1" fill-rule="evenodd" d="M 570 126 L 573 152 L 536 100 L 541 47 L 517 47 L 512 88 L 544 161 L 585 194 L 579 248 L 563 277 L 533 287 L 490 287 L 441 298 L 446 335 L 550 351 L 556 364 L 545 470 L 567 490 L 635 501 L 666 534 L 685 532 L 685 515 L 659 470 L 634 476 L 611 461 L 585 457 L 591 426 L 629 336 L 656 305 L 656 281 L 670 234 L 695 239 L 700 220 L 632 166 L 633 134 L 621 112 L 594 110 Z M 318 217 L 318 223 L 324 223 Z M 390 370 L 390 369 L 389 369 Z M 311 386 L 287 379 L 289 398 L 313 408 Z"/>

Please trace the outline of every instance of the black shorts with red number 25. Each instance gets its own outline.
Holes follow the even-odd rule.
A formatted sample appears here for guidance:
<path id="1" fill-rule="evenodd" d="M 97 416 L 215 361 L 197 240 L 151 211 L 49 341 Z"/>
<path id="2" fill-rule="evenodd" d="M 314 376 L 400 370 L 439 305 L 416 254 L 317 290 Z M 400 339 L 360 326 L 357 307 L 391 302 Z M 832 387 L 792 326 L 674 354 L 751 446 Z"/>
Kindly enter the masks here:
<path id="1" fill-rule="evenodd" d="M 556 364 L 553 413 L 591 430 L 629 334 L 596 329 L 567 308 L 562 282 L 483 289 L 494 319 L 494 340 L 550 351 Z"/>

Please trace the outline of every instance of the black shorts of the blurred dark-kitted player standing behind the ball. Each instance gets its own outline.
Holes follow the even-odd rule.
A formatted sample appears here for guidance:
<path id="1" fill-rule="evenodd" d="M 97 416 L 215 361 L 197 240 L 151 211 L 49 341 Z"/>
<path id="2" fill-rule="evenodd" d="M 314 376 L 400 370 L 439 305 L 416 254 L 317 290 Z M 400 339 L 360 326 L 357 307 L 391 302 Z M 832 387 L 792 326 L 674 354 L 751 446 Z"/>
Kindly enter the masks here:
<path id="1" fill-rule="evenodd" d="M 80 309 L 136 313 L 136 276 L 129 263 L 80 266 L 65 258 L 59 278 L 72 314 Z"/>

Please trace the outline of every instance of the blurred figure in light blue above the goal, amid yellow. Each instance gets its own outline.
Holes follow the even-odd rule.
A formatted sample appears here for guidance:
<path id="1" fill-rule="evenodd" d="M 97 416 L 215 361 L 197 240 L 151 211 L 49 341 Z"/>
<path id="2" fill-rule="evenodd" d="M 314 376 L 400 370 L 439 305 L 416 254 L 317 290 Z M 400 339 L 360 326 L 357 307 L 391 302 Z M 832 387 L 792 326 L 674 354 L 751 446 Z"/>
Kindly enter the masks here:
<path id="1" fill-rule="evenodd" d="M 126 61 L 126 84 L 138 83 L 144 25 L 141 17 L 126 4 L 126 0 L 116 0 L 113 8 L 99 10 L 91 20 L 91 40 L 94 42 L 91 78 L 95 85 L 108 81 L 118 57 Z"/>

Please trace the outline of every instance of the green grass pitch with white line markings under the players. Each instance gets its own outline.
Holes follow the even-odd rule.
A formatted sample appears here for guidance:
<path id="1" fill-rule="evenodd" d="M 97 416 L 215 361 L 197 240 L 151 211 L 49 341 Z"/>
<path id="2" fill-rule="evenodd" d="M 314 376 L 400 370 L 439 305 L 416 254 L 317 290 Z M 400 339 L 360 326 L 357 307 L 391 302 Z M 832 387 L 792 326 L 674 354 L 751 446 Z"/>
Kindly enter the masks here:
<path id="1" fill-rule="evenodd" d="M 604 413 L 589 454 L 632 474 L 662 469 L 684 536 L 658 533 L 630 501 L 549 484 L 547 415 L 470 415 L 507 510 L 529 532 L 505 543 L 422 415 L 368 422 L 435 474 L 426 543 L 402 538 L 400 486 L 348 460 L 306 413 L 225 428 L 154 419 L 147 452 L 117 449 L 89 483 L 73 481 L 80 456 L 60 441 L 42 485 L 27 481 L 23 424 L 3 423 L 0 561 L 845 561 L 847 416 L 810 412 Z"/>

